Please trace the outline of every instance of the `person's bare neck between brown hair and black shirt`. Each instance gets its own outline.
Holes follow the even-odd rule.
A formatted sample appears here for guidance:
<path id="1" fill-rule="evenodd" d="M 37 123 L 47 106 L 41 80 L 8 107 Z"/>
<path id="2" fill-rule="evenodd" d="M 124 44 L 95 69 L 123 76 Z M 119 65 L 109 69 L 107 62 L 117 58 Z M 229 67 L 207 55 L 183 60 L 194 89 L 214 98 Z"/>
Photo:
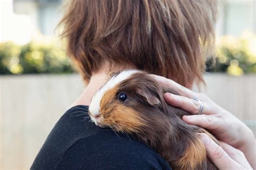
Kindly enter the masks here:
<path id="1" fill-rule="evenodd" d="M 132 67 L 115 67 L 111 69 L 105 68 L 100 72 L 92 74 L 91 79 L 87 86 L 85 87 L 83 93 L 78 97 L 78 99 L 71 105 L 74 107 L 76 105 L 90 105 L 92 96 L 96 91 L 103 86 L 103 84 L 109 79 L 112 72 L 118 72 L 124 69 L 132 69 Z"/>

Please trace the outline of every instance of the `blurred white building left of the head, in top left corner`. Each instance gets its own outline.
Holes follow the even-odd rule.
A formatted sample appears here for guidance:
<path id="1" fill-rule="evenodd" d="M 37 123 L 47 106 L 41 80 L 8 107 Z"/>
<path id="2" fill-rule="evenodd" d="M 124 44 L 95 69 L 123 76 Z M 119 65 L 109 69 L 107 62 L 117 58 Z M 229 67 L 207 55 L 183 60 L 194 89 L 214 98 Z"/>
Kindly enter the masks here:
<path id="1" fill-rule="evenodd" d="M 0 42 L 25 44 L 38 34 L 54 36 L 62 0 L 1 0 Z"/>

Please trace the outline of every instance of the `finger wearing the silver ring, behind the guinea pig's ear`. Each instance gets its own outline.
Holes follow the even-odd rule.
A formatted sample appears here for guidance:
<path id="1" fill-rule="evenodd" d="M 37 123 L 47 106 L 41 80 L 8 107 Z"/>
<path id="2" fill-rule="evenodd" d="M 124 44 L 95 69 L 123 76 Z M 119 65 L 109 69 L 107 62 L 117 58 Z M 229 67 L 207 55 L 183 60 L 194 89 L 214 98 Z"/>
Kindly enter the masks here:
<path id="1" fill-rule="evenodd" d="M 202 101 L 200 101 L 200 104 L 199 101 L 193 100 L 192 98 L 174 95 L 171 93 L 165 93 L 164 97 L 166 102 L 170 105 L 183 109 L 187 112 L 190 112 L 191 114 L 198 114 L 201 108 L 201 104 L 203 104 L 203 111 L 201 112 L 201 114 L 212 114 L 211 108 Z"/>

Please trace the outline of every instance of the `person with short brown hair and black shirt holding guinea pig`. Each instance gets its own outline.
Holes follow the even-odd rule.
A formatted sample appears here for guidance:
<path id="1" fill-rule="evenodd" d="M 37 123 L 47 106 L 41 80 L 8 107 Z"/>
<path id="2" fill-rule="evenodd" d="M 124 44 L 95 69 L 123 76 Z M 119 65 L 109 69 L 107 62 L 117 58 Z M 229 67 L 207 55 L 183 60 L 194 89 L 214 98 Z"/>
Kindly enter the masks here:
<path id="1" fill-rule="evenodd" d="M 183 120 L 221 141 L 219 146 L 201 136 L 208 158 L 219 169 L 256 168 L 252 131 L 207 96 L 190 90 L 204 83 L 205 56 L 214 45 L 216 3 L 69 1 L 59 26 L 86 87 L 56 123 L 31 169 L 171 169 L 140 141 L 88 121 L 87 106 L 95 92 L 112 72 L 131 68 L 158 75 L 163 86 L 178 91 L 180 96 L 165 94 L 166 101 L 194 114 Z"/>

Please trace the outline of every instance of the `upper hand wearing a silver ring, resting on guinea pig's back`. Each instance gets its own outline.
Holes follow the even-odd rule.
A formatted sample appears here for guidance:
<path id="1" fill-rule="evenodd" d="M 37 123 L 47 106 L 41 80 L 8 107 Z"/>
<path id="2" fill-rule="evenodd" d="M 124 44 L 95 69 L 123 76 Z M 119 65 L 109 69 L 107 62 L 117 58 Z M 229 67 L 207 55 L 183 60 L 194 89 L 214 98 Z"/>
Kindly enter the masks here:
<path id="1" fill-rule="evenodd" d="M 187 89 L 180 84 L 166 79 L 162 76 L 155 76 L 156 80 L 163 86 L 169 87 L 180 95 L 165 94 L 165 100 L 172 106 L 190 112 L 191 116 L 183 116 L 183 121 L 191 125 L 197 125 L 212 132 L 219 140 L 244 152 L 247 160 L 256 169 L 256 143 L 253 132 L 242 123 L 237 117 L 227 110 L 219 107 L 208 96 Z M 203 104 L 203 112 L 197 115 L 200 110 L 200 102 L 193 100 L 197 97 Z"/>

